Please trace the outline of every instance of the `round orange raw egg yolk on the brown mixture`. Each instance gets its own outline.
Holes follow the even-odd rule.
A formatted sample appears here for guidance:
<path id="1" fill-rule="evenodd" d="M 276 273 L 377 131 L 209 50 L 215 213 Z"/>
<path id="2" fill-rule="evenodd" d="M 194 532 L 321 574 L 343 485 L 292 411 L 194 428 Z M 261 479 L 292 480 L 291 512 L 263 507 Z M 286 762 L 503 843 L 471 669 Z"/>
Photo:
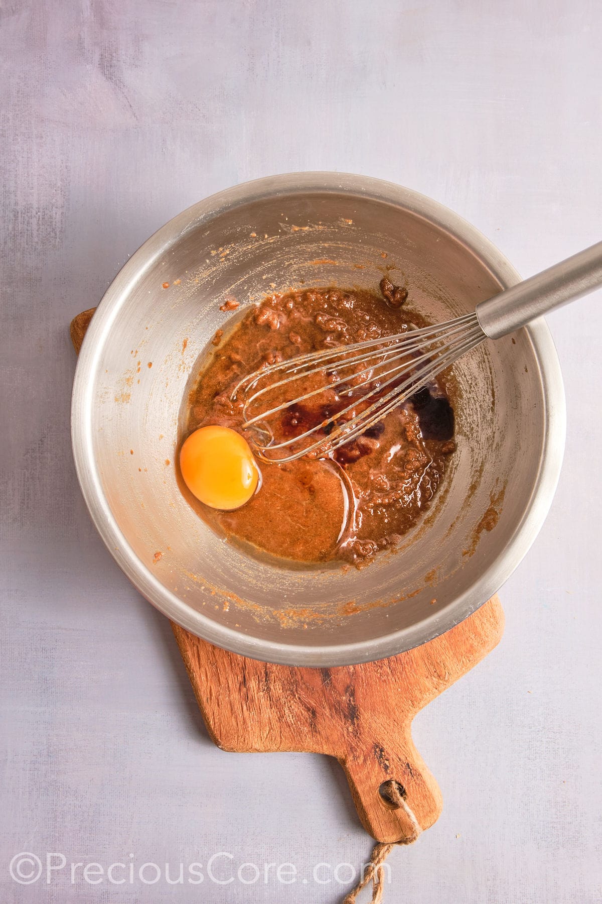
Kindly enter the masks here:
<path id="1" fill-rule="evenodd" d="M 201 503 L 226 511 L 247 503 L 259 480 L 249 444 L 228 427 L 200 427 L 191 433 L 181 447 L 180 470 Z"/>

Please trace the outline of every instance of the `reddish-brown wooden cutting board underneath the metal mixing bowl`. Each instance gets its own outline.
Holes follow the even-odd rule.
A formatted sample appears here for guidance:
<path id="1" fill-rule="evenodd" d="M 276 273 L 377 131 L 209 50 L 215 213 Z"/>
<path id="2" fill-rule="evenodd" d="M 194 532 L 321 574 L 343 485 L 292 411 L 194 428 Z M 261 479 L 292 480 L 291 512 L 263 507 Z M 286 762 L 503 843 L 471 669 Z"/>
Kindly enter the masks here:
<path id="1" fill-rule="evenodd" d="M 94 310 L 71 322 L 76 352 Z M 495 596 L 446 634 L 407 653 L 321 669 L 257 662 L 171 627 L 219 748 L 336 757 L 366 831 L 391 843 L 415 831 L 406 811 L 379 791 L 385 782 L 396 783 L 422 829 L 441 812 L 439 786 L 412 742 L 412 719 L 495 647 L 504 612 Z"/>

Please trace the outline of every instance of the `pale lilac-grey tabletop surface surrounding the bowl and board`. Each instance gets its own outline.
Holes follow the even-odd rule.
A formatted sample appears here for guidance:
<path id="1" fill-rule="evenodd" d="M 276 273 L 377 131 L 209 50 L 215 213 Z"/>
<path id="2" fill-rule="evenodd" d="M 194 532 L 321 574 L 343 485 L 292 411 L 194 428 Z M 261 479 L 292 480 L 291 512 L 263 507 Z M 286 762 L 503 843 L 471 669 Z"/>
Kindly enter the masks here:
<path id="1" fill-rule="evenodd" d="M 214 748 L 167 621 L 88 520 L 69 319 L 172 215 L 272 173 L 411 186 L 525 276 L 599 240 L 602 7 L 2 0 L 0 17 L 0 899 L 335 904 L 347 884 L 301 877 L 370 851 L 337 765 Z M 393 852 L 391 904 L 602 900 L 601 301 L 550 318 L 569 420 L 558 494 L 501 592 L 502 644 L 415 720 L 445 809 Z M 27 887 L 8 873 L 21 851 L 170 862 L 176 878 L 224 851 L 223 878 L 290 861 L 299 879 L 71 885 L 65 870 Z"/>

